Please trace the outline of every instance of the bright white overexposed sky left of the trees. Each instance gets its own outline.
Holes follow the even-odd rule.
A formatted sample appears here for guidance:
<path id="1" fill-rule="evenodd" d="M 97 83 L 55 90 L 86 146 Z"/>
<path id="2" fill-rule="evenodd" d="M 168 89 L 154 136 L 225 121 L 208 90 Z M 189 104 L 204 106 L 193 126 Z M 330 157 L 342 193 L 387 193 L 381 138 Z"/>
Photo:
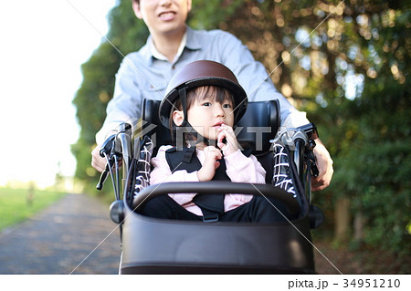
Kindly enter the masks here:
<path id="1" fill-rule="evenodd" d="M 79 138 L 72 105 L 80 65 L 108 31 L 116 0 L 2 1 L 0 4 L 0 186 L 72 176 Z M 90 109 L 91 110 L 91 109 Z"/>

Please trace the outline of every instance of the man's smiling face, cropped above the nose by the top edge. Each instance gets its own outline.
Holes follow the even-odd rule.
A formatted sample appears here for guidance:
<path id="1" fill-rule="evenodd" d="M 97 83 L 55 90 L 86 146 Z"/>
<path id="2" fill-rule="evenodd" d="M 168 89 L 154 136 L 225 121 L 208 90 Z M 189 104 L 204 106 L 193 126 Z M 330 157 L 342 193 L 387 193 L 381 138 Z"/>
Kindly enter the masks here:
<path id="1" fill-rule="evenodd" d="M 184 29 L 191 0 L 140 0 L 140 4 L 133 1 L 132 8 L 150 33 L 172 34 Z"/>

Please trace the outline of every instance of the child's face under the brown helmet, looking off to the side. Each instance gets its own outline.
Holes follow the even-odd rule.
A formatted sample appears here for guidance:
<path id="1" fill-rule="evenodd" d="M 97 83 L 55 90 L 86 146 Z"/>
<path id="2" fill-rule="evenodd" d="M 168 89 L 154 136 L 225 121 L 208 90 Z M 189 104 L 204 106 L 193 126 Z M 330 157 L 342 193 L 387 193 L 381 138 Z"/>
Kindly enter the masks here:
<path id="1" fill-rule="evenodd" d="M 213 94 L 214 93 L 214 94 Z M 234 105 L 231 99 L 225 98 L 222 102 L 216 99 L 216 91 L 207 91 L 207 95 L 198 96 L 187 111 L 187 120 L 190 125 L 209 140 L 217 140 L 221 124 L 234 126 Z M 182 111 L 178 111 L 180 120 L 174 120 L 179 125 L 184 120 Z"/>

